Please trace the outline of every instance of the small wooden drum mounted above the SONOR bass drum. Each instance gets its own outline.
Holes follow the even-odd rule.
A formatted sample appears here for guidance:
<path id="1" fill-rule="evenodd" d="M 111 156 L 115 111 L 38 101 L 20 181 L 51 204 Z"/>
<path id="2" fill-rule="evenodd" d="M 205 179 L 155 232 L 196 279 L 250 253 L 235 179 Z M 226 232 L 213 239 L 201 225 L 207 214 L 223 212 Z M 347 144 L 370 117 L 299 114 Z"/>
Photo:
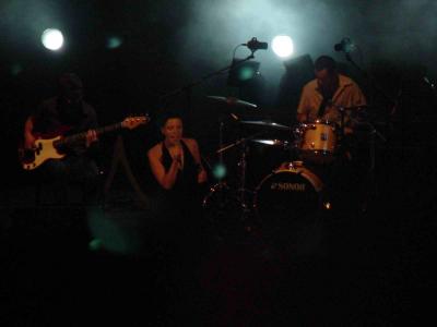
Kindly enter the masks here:
<path id="1" fill-rule="evenodd" d="M 305 161 L 315 164 L 332 162 L 336 149 L 335 124 L 316 120 L 315 122 L 303 123 L 300 130 L 300 157 Z"/>

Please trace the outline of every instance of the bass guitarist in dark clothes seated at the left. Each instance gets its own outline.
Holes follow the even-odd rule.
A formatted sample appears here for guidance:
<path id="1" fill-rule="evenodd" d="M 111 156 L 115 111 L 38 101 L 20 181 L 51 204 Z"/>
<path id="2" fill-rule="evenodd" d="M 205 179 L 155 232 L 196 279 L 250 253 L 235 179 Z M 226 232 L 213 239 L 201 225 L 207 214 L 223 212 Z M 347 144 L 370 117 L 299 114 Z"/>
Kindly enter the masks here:
<path id="1" fill-rule="evenodd" d="M 45 184 L 52 187 L 57 203 L 69 202 L 70 185 L 79 184 L 85 204 L 97 199 L 98 168 L 95 161 L 97 153 L 97 114 L 95 109 L 83 99 L 83 83 L 74 73 L 62 74 L 58 80 L 58 95 L 51 97 L 31 114 L 24 126 L 24 148 L 35 149 L 38 138 L 51 138 L 59 135 L 84 132 L 85 137 L 62 145 L 64 154 L 60 159 L 50 159 L 38 168 Z"/>

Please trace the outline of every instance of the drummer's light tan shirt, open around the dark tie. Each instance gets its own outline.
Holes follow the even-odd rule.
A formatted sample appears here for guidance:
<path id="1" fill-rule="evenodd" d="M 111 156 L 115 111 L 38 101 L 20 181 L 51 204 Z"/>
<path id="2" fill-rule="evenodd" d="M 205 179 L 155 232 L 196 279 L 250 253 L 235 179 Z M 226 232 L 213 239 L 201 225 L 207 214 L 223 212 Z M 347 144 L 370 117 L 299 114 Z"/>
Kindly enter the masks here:
<path id="1" fill-rule="evenodd" d="M 297 113 L 305 113 L 309 121 L 316 120 L 320 104 L 323 97 L 319 90 L 317 80 L 307 83 L 302 92 Z M 339 74 L 339 88 L 332 97 L 331 105 L 326 107 L 321 119 L 329 122 L 341 122 L 341 114 L 338 107 L 351 108 L 366 106 L 366 98 L 358 85 L 350 77 Z M 345 124 L 349 123 L 350 111 L 345 116 Z"/>

